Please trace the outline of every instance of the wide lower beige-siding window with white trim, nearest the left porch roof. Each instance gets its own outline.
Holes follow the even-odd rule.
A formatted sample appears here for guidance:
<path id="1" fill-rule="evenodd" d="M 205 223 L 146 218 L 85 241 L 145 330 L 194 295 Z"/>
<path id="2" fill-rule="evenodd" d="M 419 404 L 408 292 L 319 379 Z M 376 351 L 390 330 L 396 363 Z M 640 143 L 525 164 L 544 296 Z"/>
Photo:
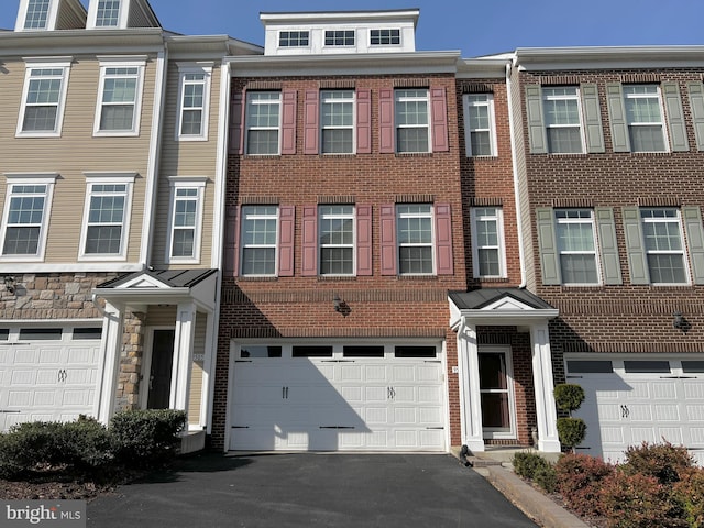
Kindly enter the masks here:
<path id="1" fill-rule="evenodd" d="M 127 256 L 134 176 L 87 177 L 88 189 L 80 243 L 82 260 Z"/>

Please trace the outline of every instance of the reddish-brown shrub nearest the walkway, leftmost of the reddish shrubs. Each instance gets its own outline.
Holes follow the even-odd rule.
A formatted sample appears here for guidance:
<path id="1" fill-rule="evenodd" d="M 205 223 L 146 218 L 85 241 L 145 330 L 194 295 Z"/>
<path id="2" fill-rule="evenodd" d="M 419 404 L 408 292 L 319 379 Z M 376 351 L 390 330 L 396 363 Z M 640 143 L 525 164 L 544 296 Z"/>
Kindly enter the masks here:
<path id="1" fill-rule="evenodd" d="M 604 515 L 600 490 L 613 465 L 585 454 L 563 454 L 554 469 L 558 491 L 570 508 L 580 515 Z"/>

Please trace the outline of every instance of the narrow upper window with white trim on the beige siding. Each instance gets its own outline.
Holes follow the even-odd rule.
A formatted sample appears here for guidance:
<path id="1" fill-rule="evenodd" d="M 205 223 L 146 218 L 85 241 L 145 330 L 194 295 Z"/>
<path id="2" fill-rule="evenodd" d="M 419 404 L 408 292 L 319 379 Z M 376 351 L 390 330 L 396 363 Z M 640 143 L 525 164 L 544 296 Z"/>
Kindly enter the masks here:
<path id="1" fill-rule="evenodd" d="M 179 64 L 178 70 L 180 92 L 177 139 L 207 140 L 212 66 Z"/>

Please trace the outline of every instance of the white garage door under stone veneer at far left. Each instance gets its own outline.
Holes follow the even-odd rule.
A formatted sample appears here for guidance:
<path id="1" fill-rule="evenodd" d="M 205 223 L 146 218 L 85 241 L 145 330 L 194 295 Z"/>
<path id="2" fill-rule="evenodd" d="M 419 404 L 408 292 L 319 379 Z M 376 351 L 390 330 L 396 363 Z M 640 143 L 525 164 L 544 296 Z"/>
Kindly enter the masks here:
<path id="1" fill-rule="evenodd" d="M 100 328 L 0 329 L 0 430 L 94 415 Z"/>

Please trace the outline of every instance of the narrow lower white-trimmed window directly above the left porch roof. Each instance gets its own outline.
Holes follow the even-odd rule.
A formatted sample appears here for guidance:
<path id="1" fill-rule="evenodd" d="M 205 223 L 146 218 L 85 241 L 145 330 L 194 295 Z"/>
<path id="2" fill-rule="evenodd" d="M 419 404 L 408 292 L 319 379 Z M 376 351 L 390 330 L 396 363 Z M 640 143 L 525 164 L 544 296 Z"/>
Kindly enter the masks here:
<path id="1" fill-rule="evenodd" d="M 167 262 L 199 263 L 206 178 L 169 178 L 172 187 Z"/>

